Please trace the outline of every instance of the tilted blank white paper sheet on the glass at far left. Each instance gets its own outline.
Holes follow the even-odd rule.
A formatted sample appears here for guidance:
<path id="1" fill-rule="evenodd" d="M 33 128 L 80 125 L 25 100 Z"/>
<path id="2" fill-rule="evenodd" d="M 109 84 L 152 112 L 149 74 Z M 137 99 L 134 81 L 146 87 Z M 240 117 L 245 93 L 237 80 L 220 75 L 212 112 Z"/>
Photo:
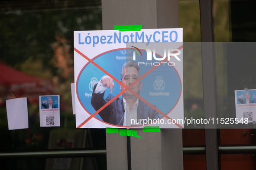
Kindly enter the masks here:
<path id="1" fill-rule="evenodd" d="M 27 98 L 6 100 L 9 130 L 29 128 Z"/>

